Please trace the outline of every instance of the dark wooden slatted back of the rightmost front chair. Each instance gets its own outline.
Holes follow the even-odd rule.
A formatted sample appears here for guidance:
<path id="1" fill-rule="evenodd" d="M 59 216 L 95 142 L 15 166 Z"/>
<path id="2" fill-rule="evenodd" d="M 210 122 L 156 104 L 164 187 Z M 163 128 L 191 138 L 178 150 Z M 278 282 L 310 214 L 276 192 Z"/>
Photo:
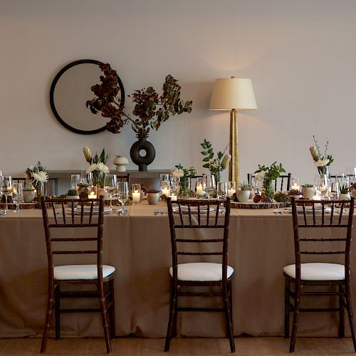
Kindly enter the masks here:
<path id="1" fill-rule="evenodd" d="M 300 280 L 302 256 L 310 258 L 315 255 L 345 255 L 345 278 L 350 278 L 354 208 L 354 198 L 321 201 L 292 199 L 296 280 Z M 343 244 L 342 248 L 339 243 Z"/>

